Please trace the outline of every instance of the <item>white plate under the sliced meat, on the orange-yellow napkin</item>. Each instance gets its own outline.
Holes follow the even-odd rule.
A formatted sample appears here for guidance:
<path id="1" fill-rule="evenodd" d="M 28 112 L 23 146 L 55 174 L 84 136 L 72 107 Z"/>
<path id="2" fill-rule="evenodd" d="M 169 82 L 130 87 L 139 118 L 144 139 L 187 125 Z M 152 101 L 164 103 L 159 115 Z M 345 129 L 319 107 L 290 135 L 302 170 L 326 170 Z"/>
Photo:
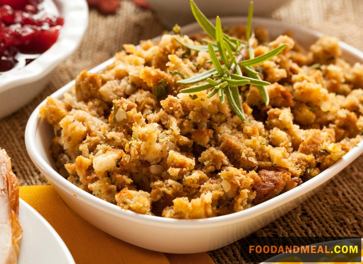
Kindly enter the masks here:
<path id="1" fill-rule="evenodd" d="M 22 199 L 20 199 L 19 220 L 23 236 L 18 264 L 75 263 L 56 230 Z"/>

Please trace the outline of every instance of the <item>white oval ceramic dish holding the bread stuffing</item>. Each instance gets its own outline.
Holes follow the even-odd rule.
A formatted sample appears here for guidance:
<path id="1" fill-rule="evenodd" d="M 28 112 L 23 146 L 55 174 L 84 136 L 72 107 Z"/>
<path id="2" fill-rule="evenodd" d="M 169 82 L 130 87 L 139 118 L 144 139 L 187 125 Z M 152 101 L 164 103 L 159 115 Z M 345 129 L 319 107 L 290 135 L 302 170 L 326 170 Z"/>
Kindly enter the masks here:
<path id="1" fill-rule="evenodd" d="M 224 26 L 245 24 L 245 18 L 228 17 L 222 19 Z M 322 34 L 312 30 L 300 29 L 269 19 L 254 19 L 254 26 L 265 26 L 272 37 L 291 29 L 296 39 L 309 46 Z M 199 32 L 199 26 L 191 24 L 183 29 L 185 34 Z M 350 63 L 363 62 L 363 53 L 340 42 L 343 56 Z M 91 72 L 99 72 L 113 62 L 109 59 Z M 52 97 L 61 99 L 68 92 L 74 81 L 65 85 Z M 40 105 L 45 104 L 43 101 Z M 28 154 L 37 168 L 44 174 L 60 197 L 77 214 L 99 229 L 136 246 L 150 250 L 169 253 L 195 253 L 214 250 L 226 246 L 274 221 L 289 210 L 295 208 L 318 187 L 331 179 L 363 152 L 363 142 L 343 156 L 337 163 L 326 169 L 313 179 L 298 187 L 272 198 L 262 204 L 237 213 L 205 218 L 180 220 L 138 214 L 123 210 L 119 206 L 103 201 L 89 194 L 58 174 L 53 160 L 49 155 L 49 147 L 53 138 L 53 129 L 38 117 L 38 106 L 29 118 L 25 130 L 25 143 Z"/>

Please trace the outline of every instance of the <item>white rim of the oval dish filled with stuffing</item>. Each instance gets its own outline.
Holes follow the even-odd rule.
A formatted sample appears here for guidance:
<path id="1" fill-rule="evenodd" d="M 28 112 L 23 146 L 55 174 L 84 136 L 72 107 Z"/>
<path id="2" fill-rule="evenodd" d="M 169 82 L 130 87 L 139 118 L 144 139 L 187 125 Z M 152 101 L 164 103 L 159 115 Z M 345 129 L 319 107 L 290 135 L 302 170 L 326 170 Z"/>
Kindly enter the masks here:
<path id="1" fill-rule="evenodd" d="M 237 24 L 241 23 L 242 21 L 246 20 L 246 17 L 222 17 L 221 20 L 224 23 L 228 24 Z M 211 20 L 213 21 L 213 20 Z M 299 30 L 308 33 L 309 35 L 314 35 L 315 37 L 319 38 L 322 37 L 322 33 L 317 32 L 315 30 L 300 28 L 294 25 L 290 25 L 288 23 L 277 21 L 269 18 L 254 18 L 254 21 L 259 21 L 260 23 L 272 23 L 276 26 L 284 25 L 291 30 Z M 196 27 L 199 27 L 196 22 L 183 26 L 181 29 L 183 32 L 192 31 Z M 160 36 L 159 36 L 160 37 Z M 157 37 L 158 38 L 158 37 Z M 156 38 L 154 38 L 156 39 Z M 360 58 L 363 60 L 363 52 L 359 51 L 358 49 L 348 45 L 344 42 L 339 42 L 339 46 L 346 51 L 354 54 L 356 58 Z M 112 63 L 114 58 L 108 59 L 105 62 L 99 64 L 98 66 L 89 70 L 89 72 L 99 72 L 103 70 L 107 65 Z M 58 89 L 54 92 L 51 97 L 56 97 L 58 99 L 63 97 L 63 93 L 69 91 L 72 85 L 75 83 L 75 80 L 69 82 L 68 84 L 64 85 L 62 88 Z M 119 206 L 111 204 L 109 202 L 103 201 L 102 199 L 95 197 L 94 195 L 83 191 L 82 189 L 78 188 L 76 185 L 70 183 L 67 179 L 62 177 L 57 171 L 55 171 L 50 164 L 48 164 L 41 156 L 41 154 L 37 150 L 36 145 L 36 135 L 38 131 L 38 126 L 40 125 L 40 118 L 38 118 L 39 108 L 41 105 L 45 104 L 46 99 L 42 101 L 36 109 L 34 109 L 33 113 L 29 117 L 28 123 L 25 129 L 25 145 L 26 150 L 30 156 L 30 159 L 33 163 L 41 170 L 47 173 L 45 176 L 46 178 L 50 178 L 52 182 L 57 182 L 57 186 L 63 189 L 65 192 L 69 194 L 75 193 L 77 199 L 81 199 L 82 202 L 89 204 L 99 210 L 107 211 L 112 215 L 117 217 L 121 217 L 123 219 L 127 219 L 133 222 L 138 222 L 142 224 L 146 224 L 148 226 L 159 226 L 164 228 L 174 229 L 178 227 L 179 229 L 190 229 L 190 228 L 198 228 L 198 229 L 205 229 L 215 226 L 220 226 L 221 224 L 233 224 L 242 222 L 244 220 L 248 220 L 253 218 L 255 215 L 261 215 L 268 211 L 272 211 L 288 202 L 292 202 L 293 200 L 298 199 L 299 197 L 303 196 L 304 194 L 309 193 L 311 190 L 319 187 L 337 173 L 339 173 L 342 169 L 346 168 L 352 161 L 354 161 L 360 154 L 363 153 L 363 140 L 360 141 L 357 145 L 358 147 L 352 148 L 347 154 L 345 154 L 340 160 L 336 163 L 331 165 L 329 168 L 325 169 L 317 176 L 313 177 L 312 179 L 304 182 L 303 184 L 285 192 L 279 194 L 278 196 L 271 198 L 268 201 L 262 202 L 261 204 L 252 206 L 246 210 L 234 212 L 227 215 L 220 215 L 216 217 L 210 218 L 200 218 L 200 219 L 173 219 L 173 218 L 165 218 L 165 217 L 158 217 L 153 215 L 146 215 L 136 213 L 131 210 L 121 209 Z M 44 145 L 42 145 L 44 146 Z M 42 147 L 40 146 L 40 147 Z"/>

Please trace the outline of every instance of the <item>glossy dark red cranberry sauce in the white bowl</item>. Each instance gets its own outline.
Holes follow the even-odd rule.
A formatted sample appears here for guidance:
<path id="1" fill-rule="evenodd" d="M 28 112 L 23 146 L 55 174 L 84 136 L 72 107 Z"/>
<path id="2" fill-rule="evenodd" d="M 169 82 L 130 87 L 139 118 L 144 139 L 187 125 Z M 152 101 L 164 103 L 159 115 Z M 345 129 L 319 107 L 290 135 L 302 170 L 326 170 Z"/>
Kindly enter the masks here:
<path id="1" fill-rule="evenodd" d="M 0 72 L 15 67 L 19 53 L 48 50 L 63 23 L 51 0 L 0 0 Z"/>

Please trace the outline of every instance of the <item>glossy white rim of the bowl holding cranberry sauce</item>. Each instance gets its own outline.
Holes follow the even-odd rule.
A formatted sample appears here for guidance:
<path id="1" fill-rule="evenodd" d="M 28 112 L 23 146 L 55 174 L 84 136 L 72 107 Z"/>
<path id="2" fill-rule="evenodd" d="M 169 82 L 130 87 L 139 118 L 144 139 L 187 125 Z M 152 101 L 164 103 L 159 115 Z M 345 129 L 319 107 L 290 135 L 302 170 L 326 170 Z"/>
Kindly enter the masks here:
<path id="1" fill-rule="evenodd" d="M 42 79 L 71 55 L 82 41 L 88 25 L 85 0 L 52 0 L 64 18 L 57 41 L 23 68 L 0 75 L 0 93 Z M 30 87 L 29 87 L 30 88 Z"/>

